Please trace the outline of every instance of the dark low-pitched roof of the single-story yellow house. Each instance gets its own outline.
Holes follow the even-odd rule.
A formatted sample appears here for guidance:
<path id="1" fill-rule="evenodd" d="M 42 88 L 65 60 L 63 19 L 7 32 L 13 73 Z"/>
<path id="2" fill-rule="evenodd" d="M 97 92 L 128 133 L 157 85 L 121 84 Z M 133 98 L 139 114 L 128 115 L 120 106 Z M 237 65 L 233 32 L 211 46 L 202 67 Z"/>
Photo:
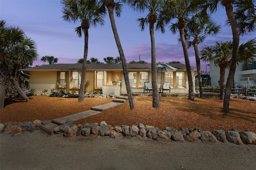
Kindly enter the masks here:
<path id="1" fill-rule="evenodd" d="M 178 70 L 186 70 L 186 65 L 180 63 L 168 64 Z M 151 70 L 151 64 L 127 64 L 128 70 Z M 86 70 L 122 70 L 122 64 L 87 64 Z M 191 67 L 196 70 L 196 67 Z M 40 70 L 82 70 L 82 64 L 48 64 L 19 69 L 19 71 Z"/>

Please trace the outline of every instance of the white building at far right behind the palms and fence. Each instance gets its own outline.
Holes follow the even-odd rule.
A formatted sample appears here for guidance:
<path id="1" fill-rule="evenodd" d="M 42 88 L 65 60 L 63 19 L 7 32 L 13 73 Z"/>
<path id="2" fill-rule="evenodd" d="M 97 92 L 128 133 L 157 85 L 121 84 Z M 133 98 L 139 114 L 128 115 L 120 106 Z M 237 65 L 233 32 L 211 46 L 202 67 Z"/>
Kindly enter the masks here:
<path id="1" fill-rule="evenodd" d="M 226 85 L 228 79 L 229 68 L 225 71 L 225 81 Z M 211 77 L 211 86 L 220 84 L 220 67 L 215 66 L 214 62 L 210 62 L 210 77 Z M 256 85 L 256 57 L 254 61 L 249 63 L 239 63 L 236 66 L 236 73 L 234 76 L 234 87 Z"/>

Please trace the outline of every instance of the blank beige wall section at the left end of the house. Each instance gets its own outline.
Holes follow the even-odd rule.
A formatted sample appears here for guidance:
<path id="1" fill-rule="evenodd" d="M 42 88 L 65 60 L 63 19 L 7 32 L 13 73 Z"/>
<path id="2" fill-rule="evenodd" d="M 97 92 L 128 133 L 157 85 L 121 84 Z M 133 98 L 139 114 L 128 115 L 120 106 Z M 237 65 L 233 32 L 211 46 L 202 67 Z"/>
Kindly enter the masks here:
<path id="1" fill-rule="evenodd" d="M 56 71 L 30 71 L 30 89 L 42 92 L 44 89 L 56 91 Z"/>

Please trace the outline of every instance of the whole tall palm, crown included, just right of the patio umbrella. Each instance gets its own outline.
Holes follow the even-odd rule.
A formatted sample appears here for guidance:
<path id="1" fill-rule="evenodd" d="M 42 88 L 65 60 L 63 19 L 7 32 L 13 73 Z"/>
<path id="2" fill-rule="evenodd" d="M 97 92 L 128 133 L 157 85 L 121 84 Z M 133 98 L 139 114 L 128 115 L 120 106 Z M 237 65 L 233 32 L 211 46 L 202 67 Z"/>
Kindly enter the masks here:
<path id="1" fill-rule="evenodd" d="M 193 79 L 192 73 L 190 69 L 190 62 L 188 57 L 188 49 L 186 45 L 186 39 L 184 36 L 184 28 L 186 23 L 190 20 L 190 16 L 198 12 L 198 3 L 200 1 L 193 0 L 168 0 L 164 3 L 164 9 L 161 13 L 161 23 L 170 23 L 171 20 L 176 20 L 176 23 L 170 23 L 170 31 L 172 34 L 176 34 L 177 30 L 180 33 L 180 41 L 182 43 L 186 71 L 188 76 L 188 99 L 194 100 L 194 87 L 193 87 Z M 161 30 L 164 32 L 164 30 Z"/>

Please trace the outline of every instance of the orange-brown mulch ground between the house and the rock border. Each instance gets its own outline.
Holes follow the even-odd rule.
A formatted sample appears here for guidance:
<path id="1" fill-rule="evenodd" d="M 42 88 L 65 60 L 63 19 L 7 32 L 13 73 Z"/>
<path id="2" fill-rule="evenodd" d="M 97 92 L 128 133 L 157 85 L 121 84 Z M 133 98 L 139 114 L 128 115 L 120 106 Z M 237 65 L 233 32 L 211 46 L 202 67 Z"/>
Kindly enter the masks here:
<path id="1" fill-rule="evenodd" d="M 4 109 L 0 109 L 0 122 L 34 121 L 36 119 L 56 119 L 89 110 L 90 107 L 109 103 L 112 99 L 31 96 L 30 102 L 22 98 L 6 99 Z M 222 112 L 223 101 L 216 98 L 195 98 L 190 101 L 182 97 L 160 97 L 160 108 L 152 108 L 152 97 L 136 97 L 135 110 L 130 110 L 129 102 L 112 107 L 98 115 L 74 121 L 74 124 L 100 123 L 109 125 L 152 125 L 165 127 L 196 128 L 203 130 L 251 130 L 256 132 L 256 102 L 230 99 L 230 112 Z"/>

